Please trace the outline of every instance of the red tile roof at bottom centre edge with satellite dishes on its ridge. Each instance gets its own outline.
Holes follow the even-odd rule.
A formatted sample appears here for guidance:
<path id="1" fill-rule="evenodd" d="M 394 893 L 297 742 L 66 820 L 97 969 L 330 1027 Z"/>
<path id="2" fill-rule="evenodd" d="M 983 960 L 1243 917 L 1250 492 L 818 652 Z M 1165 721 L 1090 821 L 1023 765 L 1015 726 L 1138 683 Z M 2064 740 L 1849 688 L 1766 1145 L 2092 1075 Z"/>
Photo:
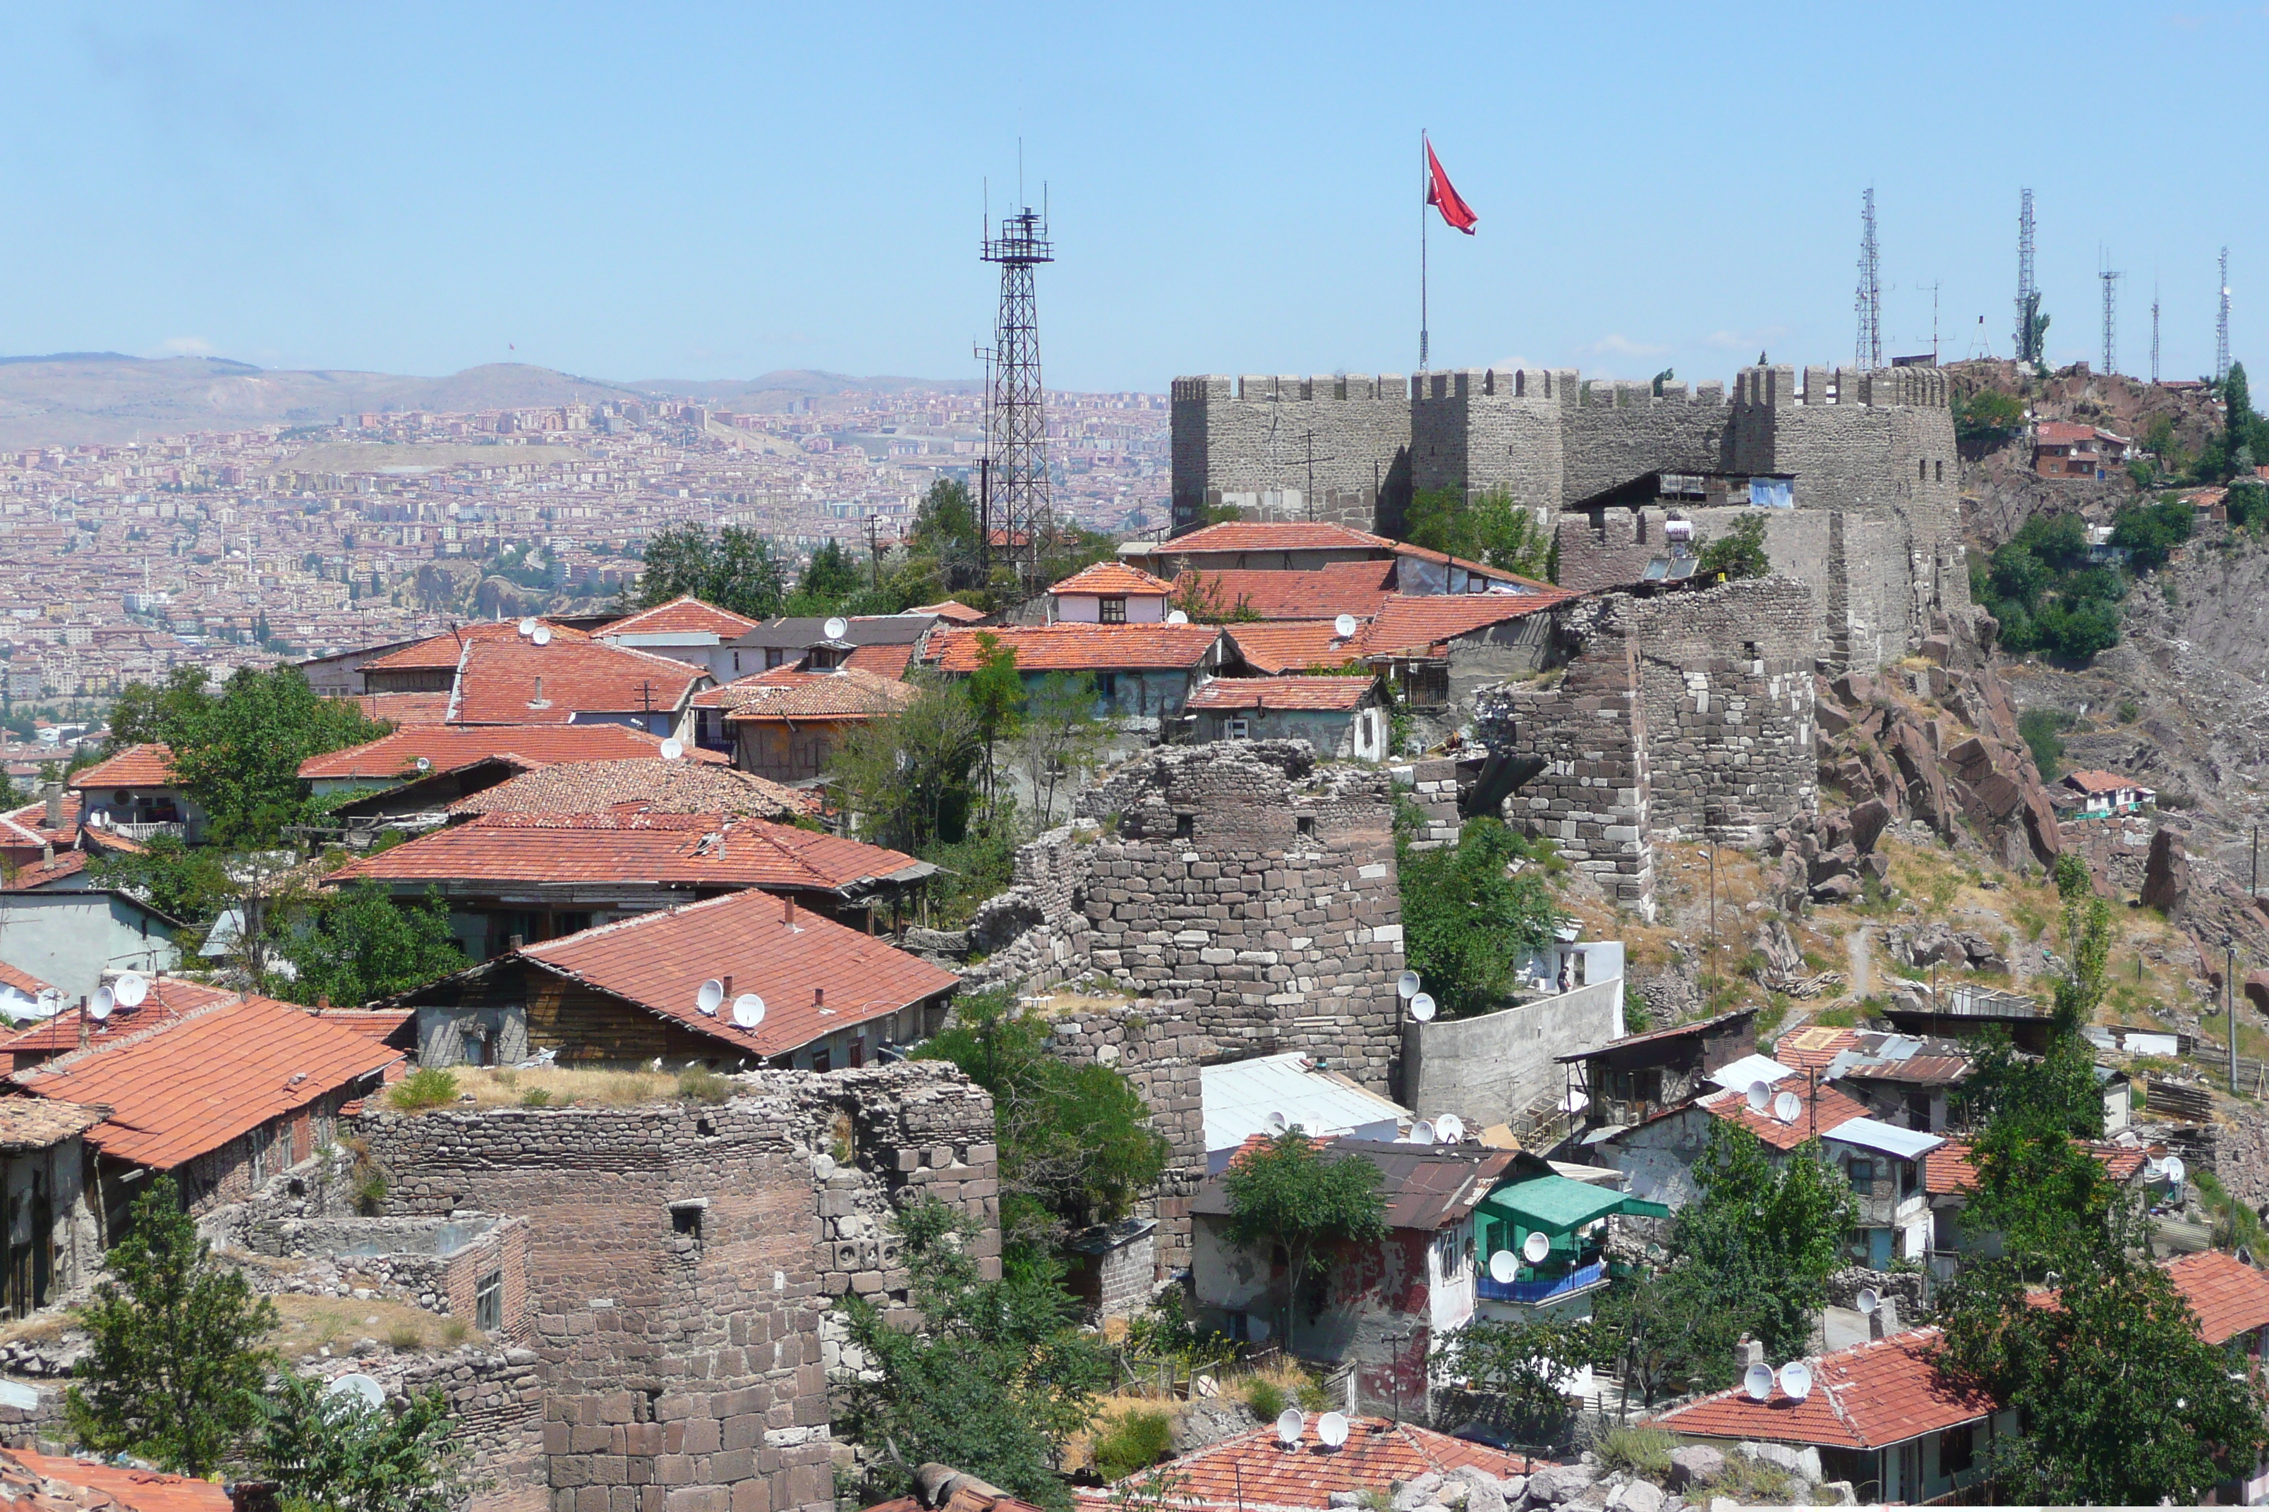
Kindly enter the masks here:
<path id="1" fill-rule="evenodd" d="M 1350 1419 L 1348 1442 L 1327 1449 L 1316 1437 L 1321 1417 L 1307 1415 L 1298 1449 L 1287 1449 L 1275 1426 L 1255 1428 L 1141 1471 L 1114 1489 L 1141 1492 L 1148 1483 L 1164 1483 L 1175 1507 L 1325 1507 L 1332 1492 L 1384 1496 L 1429 1471 L 1448 1473 L 1470 1464 L 1491 1476 L 1507 1473 L 1502 1449 L 1384 1417 Z M 1547 1462 L 1534 1464 L 1541 1469 Z M 1078 1498 L 1082 1507 L 1100 1510 L 1110 1505 L 1112 1492 L 1080 1489 Z"/>

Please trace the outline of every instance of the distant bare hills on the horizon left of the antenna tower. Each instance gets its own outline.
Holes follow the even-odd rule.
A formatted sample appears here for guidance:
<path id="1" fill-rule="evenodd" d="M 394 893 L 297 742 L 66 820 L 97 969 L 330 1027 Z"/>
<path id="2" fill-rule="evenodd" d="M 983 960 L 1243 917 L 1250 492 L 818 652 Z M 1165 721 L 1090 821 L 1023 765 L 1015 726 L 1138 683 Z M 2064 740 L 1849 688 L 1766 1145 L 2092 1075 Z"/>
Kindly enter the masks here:
<path id="1" fill-rule="evenodd" d="M 488 363 L 445 379 L 383 372 L 268 369 L 229 358 L 136 358 L 57 351 L 0 358 L 0 447 L 127 442 L 172 431 L 331 424 L 359 410 L 497 410 L 604 399 L 699 399 L 719 408 L 787 408 L 844 390 L 973 390 L 973 383 L 769 372 L 758 379 L 610 383 L 526 363 Z"/>

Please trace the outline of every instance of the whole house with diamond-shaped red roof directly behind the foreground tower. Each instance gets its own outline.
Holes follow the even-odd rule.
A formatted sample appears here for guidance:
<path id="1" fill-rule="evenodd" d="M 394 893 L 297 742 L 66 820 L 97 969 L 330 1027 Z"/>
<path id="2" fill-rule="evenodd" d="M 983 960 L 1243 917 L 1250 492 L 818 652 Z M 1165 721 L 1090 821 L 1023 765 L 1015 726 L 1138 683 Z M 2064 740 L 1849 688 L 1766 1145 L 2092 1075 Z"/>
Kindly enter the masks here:
<path id="1" fill-rule="evenodd" d="M 722 995 L 703 1000 L 706 982 Z M 388 1000 L 417 1011 L 420 1065 L 565 1063 L 722 1070 L 862 1065 L 937 1031 L 960 977 L 889 941 L 733 893 L 524 945 Z M 740 997 L 762 1000 L 756 1022 Z"/>

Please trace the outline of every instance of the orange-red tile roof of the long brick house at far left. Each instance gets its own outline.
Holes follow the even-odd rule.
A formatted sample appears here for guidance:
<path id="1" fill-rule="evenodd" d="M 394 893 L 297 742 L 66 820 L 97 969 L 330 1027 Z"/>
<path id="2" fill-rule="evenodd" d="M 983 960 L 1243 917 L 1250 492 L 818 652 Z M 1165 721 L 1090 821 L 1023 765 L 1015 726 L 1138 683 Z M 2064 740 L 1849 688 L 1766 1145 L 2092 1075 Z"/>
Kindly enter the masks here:
<path id="1" fill-rule="evenodd" d="M 295 1004 L 234 997 L 11 1077 L 41 1097 L 107 1106 L 91 1145 L 172 1170 L 399 1059 Z"/>

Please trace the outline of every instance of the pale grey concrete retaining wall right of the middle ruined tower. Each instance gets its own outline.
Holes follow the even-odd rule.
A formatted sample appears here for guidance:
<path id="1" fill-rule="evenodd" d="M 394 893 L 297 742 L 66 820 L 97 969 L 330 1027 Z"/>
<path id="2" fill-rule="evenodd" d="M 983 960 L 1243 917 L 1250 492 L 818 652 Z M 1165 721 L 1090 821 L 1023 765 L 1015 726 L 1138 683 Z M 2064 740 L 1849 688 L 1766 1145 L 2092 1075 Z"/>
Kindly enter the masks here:
<path id="1" fill-rule="evenodd" d="M 1420 1118 L 1457 1113 L 1468 1129 L 1511 1122 L 1566 1081 L 1552 1056 L 1597 1050 L 1620 1034 L 1620 975 L 1479 1018 L 1405 1025 L 1409 1106 Z"/>

